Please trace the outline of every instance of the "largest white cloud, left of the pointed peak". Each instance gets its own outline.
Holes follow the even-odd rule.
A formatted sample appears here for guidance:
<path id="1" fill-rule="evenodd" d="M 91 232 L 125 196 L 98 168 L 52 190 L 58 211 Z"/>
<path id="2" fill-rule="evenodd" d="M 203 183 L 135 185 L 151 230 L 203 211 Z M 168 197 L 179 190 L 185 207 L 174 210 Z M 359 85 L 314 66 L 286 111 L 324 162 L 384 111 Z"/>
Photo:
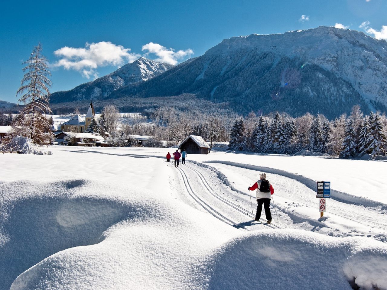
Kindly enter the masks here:
<path id="1" fill-rule="evenodd" d="M 86 78 L 98 77 L 96 68 L 108 65 L 120 66 L 123 63 L 132 63 L 140 57 L 130 53 L 130 48 L 124 48 L 110 41 L 86 43 L 85 48 L 62 47 L 54 54 L 61 59 L 53 63 L 53 67 L 63 67 L 66 70 L 77 70 Z"/>

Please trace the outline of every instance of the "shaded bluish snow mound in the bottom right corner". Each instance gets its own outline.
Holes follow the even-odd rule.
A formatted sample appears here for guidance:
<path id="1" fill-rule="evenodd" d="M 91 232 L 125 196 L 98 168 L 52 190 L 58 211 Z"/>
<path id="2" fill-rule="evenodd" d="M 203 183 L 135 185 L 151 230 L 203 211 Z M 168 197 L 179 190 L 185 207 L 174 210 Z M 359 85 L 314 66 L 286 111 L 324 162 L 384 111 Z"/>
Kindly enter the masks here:
<path id="1" fill-rule="evenodd" d="M 209 289 L 387 289 L 387 247 L 301 230 L 237 237 L 211 257 Z"/>

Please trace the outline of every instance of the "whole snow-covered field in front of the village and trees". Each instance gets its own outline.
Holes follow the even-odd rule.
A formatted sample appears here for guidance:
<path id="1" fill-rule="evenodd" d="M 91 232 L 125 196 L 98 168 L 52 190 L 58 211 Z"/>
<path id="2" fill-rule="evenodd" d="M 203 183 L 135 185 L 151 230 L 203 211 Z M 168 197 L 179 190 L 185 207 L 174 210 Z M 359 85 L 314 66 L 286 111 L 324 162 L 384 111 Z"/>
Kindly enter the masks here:
<path id="1" fill-rule="evenodd" d="M 0 155 L 0 290 L 387 289 L 385 161 L 49 150 Z M 260 172 L 271 225 L 253 220 Z"/>

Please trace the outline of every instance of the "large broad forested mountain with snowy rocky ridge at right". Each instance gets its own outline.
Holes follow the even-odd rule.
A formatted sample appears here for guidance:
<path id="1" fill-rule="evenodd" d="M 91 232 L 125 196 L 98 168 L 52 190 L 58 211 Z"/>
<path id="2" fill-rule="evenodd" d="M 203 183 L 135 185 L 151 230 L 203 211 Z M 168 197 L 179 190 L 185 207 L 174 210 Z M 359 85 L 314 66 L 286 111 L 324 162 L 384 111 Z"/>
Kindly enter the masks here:
<path id="1" fill-rule="evenodd" d="M 324 113 L 359 104 L 386 111 L 387 42 L 363 32 L 320 26 L 284 34 L 225 39 L 204 55 L 109 98 L 192 93 L 229 102 L 237 112 Z"/>

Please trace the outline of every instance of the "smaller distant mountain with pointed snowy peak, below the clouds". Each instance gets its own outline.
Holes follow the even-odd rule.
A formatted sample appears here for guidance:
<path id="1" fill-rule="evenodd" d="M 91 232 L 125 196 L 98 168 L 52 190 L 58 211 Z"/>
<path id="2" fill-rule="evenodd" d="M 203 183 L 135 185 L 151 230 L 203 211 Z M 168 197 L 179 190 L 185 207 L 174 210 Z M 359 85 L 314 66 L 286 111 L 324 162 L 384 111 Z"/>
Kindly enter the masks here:
<path id="1" fill-rule="evenodd" d="M 103 99 L 120 87 L 144 82 L 171 67 L 173 65 L 168 63 L 158 63 L 141 57 L 133 63 L 123 65 L 115 72 L 79 85 L 72 90 L 52 93 L 50 103 Z"/>

